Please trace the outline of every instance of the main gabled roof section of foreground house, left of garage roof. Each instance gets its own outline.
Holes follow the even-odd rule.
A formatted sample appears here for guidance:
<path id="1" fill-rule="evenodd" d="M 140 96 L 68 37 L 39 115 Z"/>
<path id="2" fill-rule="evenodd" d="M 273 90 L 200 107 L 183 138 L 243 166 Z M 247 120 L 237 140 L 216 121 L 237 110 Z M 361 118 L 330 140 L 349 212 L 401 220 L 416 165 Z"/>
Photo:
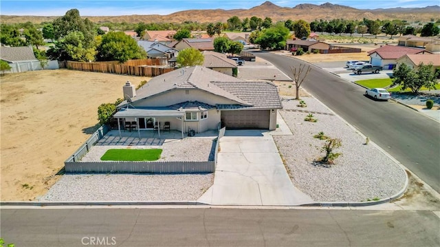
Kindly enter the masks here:
<path id="1" fill-rule="evenodd" d="M 172 89 L 201 89 L 203 91 L 228 98 L 241 105 L 249 105 L 241 98 L 226 92 L 225 90 L 210 83 L 213 79 L 225 82 L 240 83 L 243 80 L 228 76 L 226 74 L 216 72 L 207 67 L 195 66 L 175 69 L 172 72 L 155 76 L 148 81 L 144 86 L 136 91 L 136 97 L 133 98 L 133 103 L 142 98 L 147 98 L 157 94 L 170 91 Z"/>

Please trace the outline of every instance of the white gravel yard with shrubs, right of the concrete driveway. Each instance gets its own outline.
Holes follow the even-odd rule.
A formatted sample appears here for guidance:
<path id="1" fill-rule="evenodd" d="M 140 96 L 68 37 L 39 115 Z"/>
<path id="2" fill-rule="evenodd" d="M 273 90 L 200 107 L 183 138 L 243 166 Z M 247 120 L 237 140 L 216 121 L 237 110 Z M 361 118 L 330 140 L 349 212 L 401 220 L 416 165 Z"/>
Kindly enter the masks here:
<path id="1" fill-rule="evenodd" d="M 283 101 L 281 116 L 293 136 L 273 136 L 287 164 L 292 182 L 317 202 L 360 202 L 384 199 L 404 187 L 406 175 L 391 158 L 365 139 L 327 107 L 312 97 L 303 97 L 307 107 L 297 107 L 297 100 Z M 306 122 L 307 112 L 314 111 L 318 122 Z M 324 113 L 324 114 L 319 114 Z M 324 153 L 325 140 L 314 138 L 323 131 L 325 136 L 340 138 L 342 153 L 331 168 L 318 167 L 314 160 Z"/>

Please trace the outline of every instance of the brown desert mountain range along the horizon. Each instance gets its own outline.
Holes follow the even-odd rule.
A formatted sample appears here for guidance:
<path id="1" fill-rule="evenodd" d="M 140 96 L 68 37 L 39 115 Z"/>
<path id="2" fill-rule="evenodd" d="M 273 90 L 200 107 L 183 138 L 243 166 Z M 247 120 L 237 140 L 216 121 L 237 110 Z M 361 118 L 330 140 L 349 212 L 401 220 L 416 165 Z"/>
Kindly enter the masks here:
<path id="1" fill-rule="evenodd" d="M 67 12 L 67 10 L 66 10 Z M 315 5 L 310 3 L 298 4 L 294 8 L 276 6 L 270 1 L 266 1 L 260 6 L 246 9 L 235 10 L 184 10 L 172 14 L 133 14 L 122 16 L 100 16 L 87 17 L 90 21 L 103 23 L 110 21 L 113 23 L 182 23 L 184 21 L 194 21 L 199 23 L 208 22 L 226 22 L 230 17 L 237 16 L 240 19 L 245 17 L 265 17 L 272 18 L 272 21 L 285 21 L 291 19 L 296 21 L 303 19 L 305 21 L 314 21 L 315 19 L 348 19 L 362 20 L 366 19 L 401 19 L 406 21 L 430 21 L 439 19 L 440 6 L 427 6 L 424 8 L 378 8 L 360 10 L 348 6 L 341 6 L 332 3 L 323 3 Z M 82 16 L 85 17 L 85 16 Z M 43 21 L 52 21 L 56 17 L 36 17 L 36 16 L 8 16 L 1 15 L 1 23 L 23 23 L 31 21 L 32 23 L 41 23 Z"/>

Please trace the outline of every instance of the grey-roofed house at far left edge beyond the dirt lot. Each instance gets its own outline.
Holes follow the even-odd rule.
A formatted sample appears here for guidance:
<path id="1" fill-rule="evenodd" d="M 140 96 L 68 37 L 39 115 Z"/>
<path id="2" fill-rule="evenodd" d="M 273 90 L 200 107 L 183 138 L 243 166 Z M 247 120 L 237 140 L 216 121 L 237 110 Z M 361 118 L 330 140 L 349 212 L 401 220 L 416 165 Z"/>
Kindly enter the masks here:
<path id="1" fill-rule="evenodd" d="M 0 46 L 0 60 L 7 62 L 11 67 L 11 69 L 5 71 L 5 73 L 26 72 L 41 69 L 40 61 L 36 59 L 32 46 Z"/>

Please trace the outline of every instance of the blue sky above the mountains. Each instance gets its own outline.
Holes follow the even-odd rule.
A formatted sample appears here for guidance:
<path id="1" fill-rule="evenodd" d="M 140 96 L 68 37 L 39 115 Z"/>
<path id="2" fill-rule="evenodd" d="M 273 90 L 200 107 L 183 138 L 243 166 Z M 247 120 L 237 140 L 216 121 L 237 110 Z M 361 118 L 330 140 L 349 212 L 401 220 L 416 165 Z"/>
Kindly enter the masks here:
<path id="1" fill-rule="evenodd" d="M 236 8 L 249 9 L 259 6 L 265 1 L 252 0 L 143 0 L 143 1 L 22 1 L 0 0 L 0 14 L 5 15 L 36 15 L 36 16 L 62 16 L 72 8 L 80 11 L 81 16 L 116 16 L 130 14 L 170 14 L 180 10 L 217 9 L 231 10 Z M 305 0 L 305 1 L 272 1 L 282 7 L 294 7 L 300 3 L 340 4 L 359 9 L 373 8 L 422 8 L 439 5 L 439 0 Z"/>

